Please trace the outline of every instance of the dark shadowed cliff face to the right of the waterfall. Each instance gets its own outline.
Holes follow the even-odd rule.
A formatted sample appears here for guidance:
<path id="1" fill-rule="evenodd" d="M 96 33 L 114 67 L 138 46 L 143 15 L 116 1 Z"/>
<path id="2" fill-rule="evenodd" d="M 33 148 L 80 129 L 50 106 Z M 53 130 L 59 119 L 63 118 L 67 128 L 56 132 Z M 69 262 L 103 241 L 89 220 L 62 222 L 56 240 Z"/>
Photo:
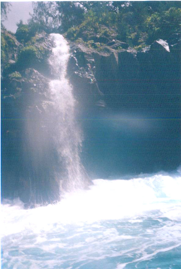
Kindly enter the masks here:
<path id="1" fill-rule="evenodd" d="M 93 177 L 176 169 L 181 159 L 180 35 L 141 51 L 126 45 L 114 49 L 116 42 L 101 50 L 71 43 L 68 74 L 75 94 L 81 90 L 85 167 Z"/>

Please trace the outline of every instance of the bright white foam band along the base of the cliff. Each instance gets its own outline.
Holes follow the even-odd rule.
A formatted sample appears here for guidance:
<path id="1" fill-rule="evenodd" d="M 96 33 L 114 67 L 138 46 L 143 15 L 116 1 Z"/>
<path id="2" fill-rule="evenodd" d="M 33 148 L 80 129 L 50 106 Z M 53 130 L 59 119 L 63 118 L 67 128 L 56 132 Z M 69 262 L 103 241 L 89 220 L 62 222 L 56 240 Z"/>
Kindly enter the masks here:
<path id="1" fill-rule="evenodd" d="M 22 203 L 2 205 L 2 235 L 33 230 L 42 232 L 65 224 L 143 216 L 181 218 L 181 177 L 153 175 L 130 180 L 96 179 L 89 190 L 66 193 L 56 205 L 24 210 Z"/>

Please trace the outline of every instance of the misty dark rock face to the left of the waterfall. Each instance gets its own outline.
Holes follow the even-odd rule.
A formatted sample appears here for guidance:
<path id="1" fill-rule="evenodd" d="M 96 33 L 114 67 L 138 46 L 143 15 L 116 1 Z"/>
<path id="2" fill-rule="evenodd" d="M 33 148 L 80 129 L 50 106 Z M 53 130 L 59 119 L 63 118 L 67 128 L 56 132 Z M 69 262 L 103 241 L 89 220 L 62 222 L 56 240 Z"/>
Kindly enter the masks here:
<path id="1" fill-rule="evenodd" d="M 6 32 L 3 36 L 2 198 L 20 197 L 27 206 L 52 203 L 60 199 L 60 182 L 54 176 L 59 167 L 51 130 L 44 122 L 51 76 L 48 58 L 53 43 L 45 32 L 35 35 L 25 46 L 14 36 L 13 45 L 9 44 Z M 54 167 L 50 166 L 52 162 Z"/>

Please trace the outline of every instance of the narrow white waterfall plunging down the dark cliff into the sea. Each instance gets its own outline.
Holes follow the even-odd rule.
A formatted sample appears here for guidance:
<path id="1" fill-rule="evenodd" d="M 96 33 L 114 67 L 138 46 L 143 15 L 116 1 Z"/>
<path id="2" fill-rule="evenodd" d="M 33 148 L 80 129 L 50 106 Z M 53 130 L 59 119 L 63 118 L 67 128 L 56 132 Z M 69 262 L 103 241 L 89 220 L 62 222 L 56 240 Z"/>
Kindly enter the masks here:
<path id="1" fill-rule="evenodd" d="M 61 165 L 62 188 L 66 191 L 84 186 L 86 173 L 80 161 L 82 134 L 75 119 L 76 100 L 66 79 L 69 47 L 62 35 L 51 34 L 55 47 L 49 59 L 54 77 L 49 83 L 53 139 Z M 47 104 L 46 104 L 47 105 Z M 63 169 L 62 169 L 63 168 Z M 62 172 L 63 170 L 63 172 Z"/>

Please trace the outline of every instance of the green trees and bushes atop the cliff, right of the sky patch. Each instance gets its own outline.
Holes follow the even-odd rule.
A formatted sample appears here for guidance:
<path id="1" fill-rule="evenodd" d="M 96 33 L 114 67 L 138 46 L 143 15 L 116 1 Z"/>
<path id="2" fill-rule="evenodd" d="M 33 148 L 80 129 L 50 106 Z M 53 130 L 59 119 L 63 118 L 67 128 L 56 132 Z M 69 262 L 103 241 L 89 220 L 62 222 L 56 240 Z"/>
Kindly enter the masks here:
<path id="1" fill-rule="evenodd" d="M 29 24 L 39 24 L 48 33 L 64 33 L 72 41 L 81 38 L 92 47 L 100 42 L 92 35 L 113 37 L 140 49 L 181 29 L 180 1 L 63 1 L 33 6 Z"/>

